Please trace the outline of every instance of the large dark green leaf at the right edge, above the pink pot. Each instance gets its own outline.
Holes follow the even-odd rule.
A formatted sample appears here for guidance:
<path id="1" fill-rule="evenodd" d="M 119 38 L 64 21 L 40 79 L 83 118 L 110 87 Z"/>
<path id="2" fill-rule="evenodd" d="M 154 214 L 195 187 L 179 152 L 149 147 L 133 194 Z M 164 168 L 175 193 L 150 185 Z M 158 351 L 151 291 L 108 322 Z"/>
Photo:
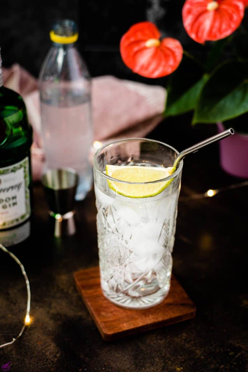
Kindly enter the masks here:
<path id="1" fill-rule="evenodd" d="M 248 80 L 245 65 L 227 61 L 211 75 L 200 93 L 193 124 L 216 123 L 248 112 Z"/>

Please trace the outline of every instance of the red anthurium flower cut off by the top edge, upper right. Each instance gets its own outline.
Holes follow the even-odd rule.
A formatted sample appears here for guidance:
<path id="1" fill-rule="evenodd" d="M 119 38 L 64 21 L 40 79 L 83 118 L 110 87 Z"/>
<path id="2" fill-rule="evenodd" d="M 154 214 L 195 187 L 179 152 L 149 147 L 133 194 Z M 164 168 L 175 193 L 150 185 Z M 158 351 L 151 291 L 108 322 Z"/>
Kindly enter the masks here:
<path id="1" fill-rule="evenodd" d="M 244 17 L 244 1 L 248 0 L 186 0 L 183 25 L 189 36 L 203 44 L 231 35 Z"/>

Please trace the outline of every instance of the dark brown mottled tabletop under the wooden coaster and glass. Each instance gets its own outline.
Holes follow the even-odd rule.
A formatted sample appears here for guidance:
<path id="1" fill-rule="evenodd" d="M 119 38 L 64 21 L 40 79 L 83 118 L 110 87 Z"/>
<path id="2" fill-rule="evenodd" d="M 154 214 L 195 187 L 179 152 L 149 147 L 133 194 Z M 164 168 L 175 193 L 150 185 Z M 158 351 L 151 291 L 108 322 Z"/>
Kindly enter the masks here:
<path id="1" fill-rule="evenodd" d="M 192 128 L 186 116 L 162 122 L 147 137 L 183 150 L 215 133 L 215 125 Z M 13 372 L 248 371 L 247 187 L 187 199 L 241 181 L 220 168 L 218 144 L 185 159 L 173 272 L 196 304 L 196 318 L 114 342 L 102 340 L 73 279 L 98 264 L 94 192 L 76 203 L 77 233 L 56 239 L 36 183 L 32 237 L 14 250 L 30 280 L 33 322 L 0 349 L 0 366 L 11 360 Z M 1 251 L 0 262 L 3 343 L 20 331 L 26 286 L 19 266 Z"/>

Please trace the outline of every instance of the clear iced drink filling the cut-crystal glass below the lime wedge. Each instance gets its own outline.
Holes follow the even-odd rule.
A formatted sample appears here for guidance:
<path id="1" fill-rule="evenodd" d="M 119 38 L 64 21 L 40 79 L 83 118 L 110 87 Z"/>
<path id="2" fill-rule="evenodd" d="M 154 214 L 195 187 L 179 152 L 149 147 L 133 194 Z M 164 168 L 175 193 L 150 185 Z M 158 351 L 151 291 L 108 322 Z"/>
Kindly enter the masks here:
<path id="1" fill-rule="evenodd" d="M 95 195 L 105 296 L 127 308 L 158 304 L 170 288 L 179 189 L 172 193 L 169 185 L 156 196 L 134 199 L 95 183 Z"/>

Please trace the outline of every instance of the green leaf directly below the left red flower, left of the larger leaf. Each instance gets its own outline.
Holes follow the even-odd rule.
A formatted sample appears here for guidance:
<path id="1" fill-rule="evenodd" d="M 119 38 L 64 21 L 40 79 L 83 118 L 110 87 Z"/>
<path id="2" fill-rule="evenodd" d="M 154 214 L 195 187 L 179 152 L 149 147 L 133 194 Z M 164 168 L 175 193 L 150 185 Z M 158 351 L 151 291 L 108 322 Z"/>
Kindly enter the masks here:
<path id="1" fill-rule="evenodd" d="M 183 56 L 167 87 L 164 116 L 180 115 L 195 108 L 199 93 L 208 79 L 203 73 L 203 68 L 192 57 Z"/>

